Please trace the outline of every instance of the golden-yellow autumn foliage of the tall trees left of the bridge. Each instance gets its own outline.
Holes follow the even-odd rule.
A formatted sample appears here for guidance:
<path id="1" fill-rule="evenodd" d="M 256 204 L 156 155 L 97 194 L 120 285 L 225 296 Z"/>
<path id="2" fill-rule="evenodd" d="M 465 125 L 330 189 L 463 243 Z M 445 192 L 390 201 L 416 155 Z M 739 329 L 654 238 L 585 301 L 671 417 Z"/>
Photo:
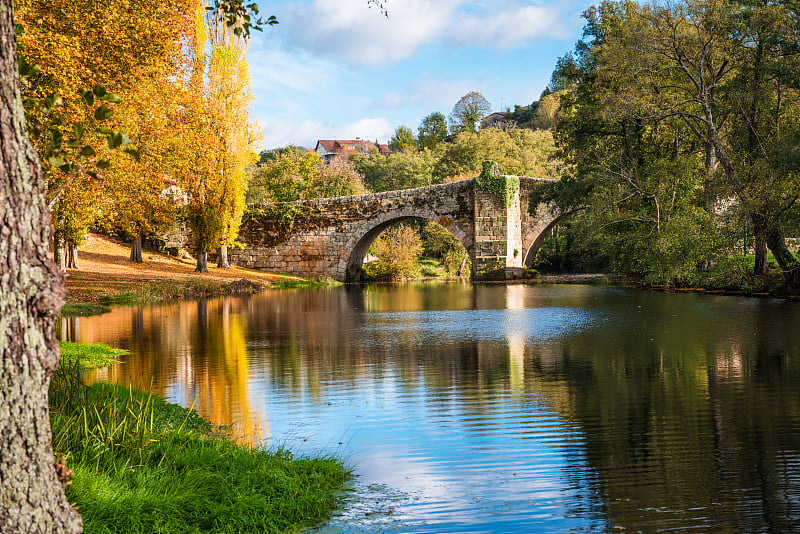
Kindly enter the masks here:
<path id="1" fill-rule="evenodd" d="M 23 93 L 39 126 L 31 138 L 48 178 L 54 250 L 66 260 L 92 225 L 131 240 L 157 233 L 181 211 L 202 221 L 198 252 L 232 244 L 254 158 L 246 33 L 199 0 L 15 8 L 35 66 Z"/>

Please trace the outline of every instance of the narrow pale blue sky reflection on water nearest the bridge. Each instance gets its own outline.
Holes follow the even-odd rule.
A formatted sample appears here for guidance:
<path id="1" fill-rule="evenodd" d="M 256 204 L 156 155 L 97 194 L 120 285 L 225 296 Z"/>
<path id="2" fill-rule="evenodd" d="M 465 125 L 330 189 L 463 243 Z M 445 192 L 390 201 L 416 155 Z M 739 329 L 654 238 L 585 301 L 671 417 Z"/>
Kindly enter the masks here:
<path id="1" fill-rule="evenodd" d="M 367 324 L 386 334 L 419 333 L 425 341 L 507 341 L 512 336 L 545 340 L 588 328 L 595 318 L 591 310 L 580 308 L 412 311 L 370 313 Z"/>

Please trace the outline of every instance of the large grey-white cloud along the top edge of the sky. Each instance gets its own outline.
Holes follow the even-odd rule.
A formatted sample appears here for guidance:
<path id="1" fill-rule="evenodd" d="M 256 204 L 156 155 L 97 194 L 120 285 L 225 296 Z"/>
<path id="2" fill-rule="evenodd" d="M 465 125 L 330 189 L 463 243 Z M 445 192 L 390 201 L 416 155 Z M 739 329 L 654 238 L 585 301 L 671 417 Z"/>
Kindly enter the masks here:
<path id="1" fill-rule="evenodd" d="M 363 0 L 313 0 L 282 15 L 285 42 L 335 57 L 351 65 L 397 63 L 423 45 L 448 43 L 514 48 L 537 37 L 564 37 L 561 21 L 568 6 L 475 0 L 391 2 L 389 17 L 367 9 Z"/>

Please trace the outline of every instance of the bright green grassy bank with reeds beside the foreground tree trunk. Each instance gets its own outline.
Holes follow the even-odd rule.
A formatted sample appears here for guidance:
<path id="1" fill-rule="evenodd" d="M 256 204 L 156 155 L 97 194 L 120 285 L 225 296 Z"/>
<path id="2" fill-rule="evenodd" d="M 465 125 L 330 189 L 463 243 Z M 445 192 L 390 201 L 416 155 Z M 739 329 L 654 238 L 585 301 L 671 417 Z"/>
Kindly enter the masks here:
<path id="1" fill-rule="evenodd" d="M 330 516 L 341 462 L 253 449 L 156 395 L 85 385 L 85 355 L 120 355 L 86 347 L 65 347 L 50 386 L 53 449 L 85 532 L 287 532 Z"/>

